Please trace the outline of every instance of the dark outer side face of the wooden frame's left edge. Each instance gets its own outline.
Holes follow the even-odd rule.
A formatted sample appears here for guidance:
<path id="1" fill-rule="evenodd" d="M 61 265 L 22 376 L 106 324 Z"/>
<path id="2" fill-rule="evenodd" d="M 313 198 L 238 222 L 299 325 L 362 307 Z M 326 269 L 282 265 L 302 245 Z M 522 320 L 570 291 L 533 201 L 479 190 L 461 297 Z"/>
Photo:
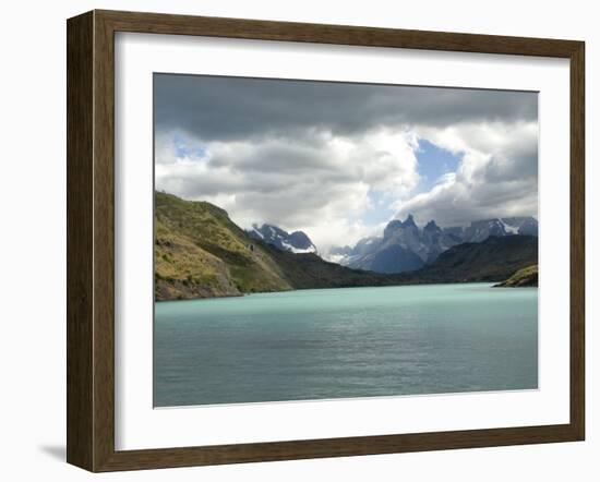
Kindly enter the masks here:
<path id="1" fill-rule="evenodd" d="M 67 460 L 93 467 L 93 14 L 67 32 Z"/>

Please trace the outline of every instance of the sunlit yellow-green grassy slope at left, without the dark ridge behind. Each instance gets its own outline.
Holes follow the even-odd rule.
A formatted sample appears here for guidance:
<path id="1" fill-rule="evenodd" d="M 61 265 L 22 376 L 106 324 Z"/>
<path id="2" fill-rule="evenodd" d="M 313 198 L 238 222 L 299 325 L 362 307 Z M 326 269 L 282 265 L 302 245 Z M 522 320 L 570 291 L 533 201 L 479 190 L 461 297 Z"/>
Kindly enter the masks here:
<path id="1" fill-rule="evenodd" d="M 209 203 L 155 195 L 157 300 L 291 289 L 262 246 Z"/>

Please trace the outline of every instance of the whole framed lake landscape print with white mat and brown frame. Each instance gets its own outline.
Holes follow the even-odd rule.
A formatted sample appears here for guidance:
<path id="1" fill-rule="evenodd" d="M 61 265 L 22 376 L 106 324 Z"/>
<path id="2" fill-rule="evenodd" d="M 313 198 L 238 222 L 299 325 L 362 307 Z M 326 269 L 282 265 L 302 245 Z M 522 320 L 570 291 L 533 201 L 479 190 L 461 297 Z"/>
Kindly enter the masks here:
<path id="1" fill-rule="evenodd" d="M 68 461 L 581 441 L 584 44 L 68 22 Z"/>

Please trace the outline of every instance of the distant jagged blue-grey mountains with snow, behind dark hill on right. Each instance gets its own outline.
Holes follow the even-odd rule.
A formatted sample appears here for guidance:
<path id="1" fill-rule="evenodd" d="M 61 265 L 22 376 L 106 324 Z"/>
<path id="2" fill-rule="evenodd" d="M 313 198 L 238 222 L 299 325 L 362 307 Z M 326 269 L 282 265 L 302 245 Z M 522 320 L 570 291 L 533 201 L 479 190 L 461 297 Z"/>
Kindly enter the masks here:
<path id="1" fill-rule="evenodd" d="M 463 243 L 490 237 L 538 236 L 533 217 L 478 220 L 468 227 L 441 228 L 434 220 L 419 228 L 412 215 L 387 224 L 383 237 L 361 239 L 353 248 L 334 248 L 329 260 L 355 269 L 376 273 L 405 273 L 433 263 L 442 253 Z"/>

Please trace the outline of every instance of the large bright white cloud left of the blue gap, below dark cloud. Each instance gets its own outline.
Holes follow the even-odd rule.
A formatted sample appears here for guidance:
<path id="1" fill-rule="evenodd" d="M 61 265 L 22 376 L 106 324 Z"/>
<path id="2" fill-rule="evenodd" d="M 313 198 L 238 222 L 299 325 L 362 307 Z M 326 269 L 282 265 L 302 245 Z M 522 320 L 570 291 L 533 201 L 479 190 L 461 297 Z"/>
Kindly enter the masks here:
<path id="1" fill-rule="evenodd" d="M 269 222 L 309 232 L 320 249 L 370 234 L 370 194 L 391 200 L 419 183 L 415 133 L 377 129 L 199 143 L 182 132 L 156 136 L 156 188 L 225 208 L 242 227 Z"/>

